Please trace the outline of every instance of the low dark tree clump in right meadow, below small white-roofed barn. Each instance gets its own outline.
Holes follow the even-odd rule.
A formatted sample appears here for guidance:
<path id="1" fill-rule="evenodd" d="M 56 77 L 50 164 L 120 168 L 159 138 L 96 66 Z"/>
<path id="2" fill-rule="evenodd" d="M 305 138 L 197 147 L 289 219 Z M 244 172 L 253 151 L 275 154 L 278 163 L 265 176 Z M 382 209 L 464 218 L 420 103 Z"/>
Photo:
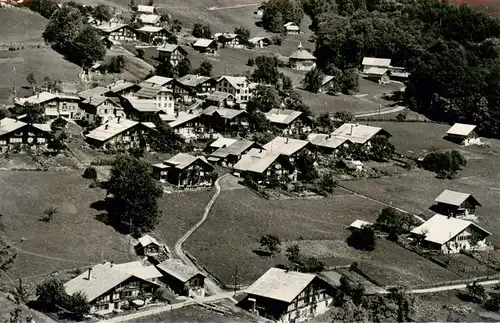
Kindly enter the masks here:
<path id="1" fill-rule="evenodd" d="M 462 167 L 467 165 L 467 160 L 458 151 L 433 151 L 427 154 L 422 161 L 422 167 L 435 172 L 438 178 L 452 179 Z"/>

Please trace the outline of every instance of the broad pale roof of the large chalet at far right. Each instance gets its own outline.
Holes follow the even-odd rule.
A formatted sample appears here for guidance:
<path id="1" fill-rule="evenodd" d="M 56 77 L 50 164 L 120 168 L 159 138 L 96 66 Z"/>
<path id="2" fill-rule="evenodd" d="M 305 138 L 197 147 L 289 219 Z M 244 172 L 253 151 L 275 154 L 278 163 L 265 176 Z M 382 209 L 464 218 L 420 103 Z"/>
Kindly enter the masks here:
<path id="1" fill-rule="evenodd" d="M 475 226 L 479 230 L 490 235 L 477 224 L 471 221 L 448 217 L 441 214 L 435 214 L 432 218 L 425 221 L 420 226 L 411 230 L 411 233 L 425 235 L 425 240 L 437 244 L 445 244 L 450 241 L 469 226 Z"/>

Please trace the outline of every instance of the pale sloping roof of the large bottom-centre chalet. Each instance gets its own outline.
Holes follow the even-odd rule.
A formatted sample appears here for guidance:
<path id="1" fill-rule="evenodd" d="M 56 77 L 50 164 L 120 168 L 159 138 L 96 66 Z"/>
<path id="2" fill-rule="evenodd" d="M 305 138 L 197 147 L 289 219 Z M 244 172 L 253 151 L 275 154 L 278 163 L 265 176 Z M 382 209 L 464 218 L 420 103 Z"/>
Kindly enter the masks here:
<path id="1" fill-rule="evenodd" d="M 293 301 L 317 276 L 314 274 L 270 268 L 246 292 L 285 303 Z"/>

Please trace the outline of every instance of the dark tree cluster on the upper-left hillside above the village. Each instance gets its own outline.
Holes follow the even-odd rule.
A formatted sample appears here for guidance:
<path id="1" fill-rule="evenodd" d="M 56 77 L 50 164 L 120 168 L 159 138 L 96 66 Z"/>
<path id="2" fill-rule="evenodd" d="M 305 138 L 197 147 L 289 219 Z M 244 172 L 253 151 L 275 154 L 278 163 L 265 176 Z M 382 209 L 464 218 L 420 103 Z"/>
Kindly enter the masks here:
<path id="1" fill-rule="evenodd" d="M 54 11 L 43 32 L 45 41 L 80 66 L 91 66 L 106 54 L 100 33 L 88 23 L 83 6 L 65 3 Z"/>

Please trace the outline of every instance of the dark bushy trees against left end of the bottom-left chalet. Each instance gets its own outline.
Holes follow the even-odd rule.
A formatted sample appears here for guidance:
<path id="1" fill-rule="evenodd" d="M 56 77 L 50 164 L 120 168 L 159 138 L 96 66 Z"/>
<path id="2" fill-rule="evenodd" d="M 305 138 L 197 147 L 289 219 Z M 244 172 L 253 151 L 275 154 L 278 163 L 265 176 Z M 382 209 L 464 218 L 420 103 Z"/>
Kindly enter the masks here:
<path id="1" fill-rule="evenodd" d="M 66 294 L 63 282 L 57 278 L 49 278 L 39 284 L 36 287 L 36 296 L 46 312 L 63 308 L 73 314 L 83 315 L 90 311 L 86 295 L 82 292 L 73 295 Z"/>

